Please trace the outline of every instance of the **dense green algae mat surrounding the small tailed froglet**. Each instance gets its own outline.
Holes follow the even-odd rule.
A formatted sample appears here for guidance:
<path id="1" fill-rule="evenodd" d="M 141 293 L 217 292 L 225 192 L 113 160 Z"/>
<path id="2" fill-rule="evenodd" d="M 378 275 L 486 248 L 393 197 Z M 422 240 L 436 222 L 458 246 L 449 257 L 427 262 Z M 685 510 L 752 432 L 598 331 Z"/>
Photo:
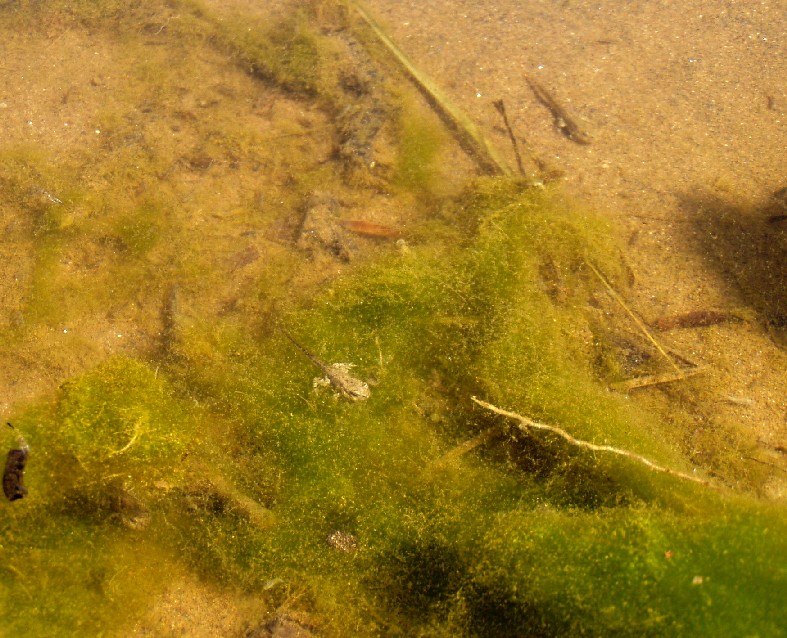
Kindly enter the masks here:
<path id="1" fill-rule="evenodd" d="M 135 613 L 160 589 L 144 546 L 331 635 L 779 635 L 783 510 L 515 430 L 438 463 L 496 422 L 473 393 L 687 469 L 575 343 L 597 287 L 581 263 L 614 276 L 603 226 L 489 186 L 508 188 L 444 211 L 475 232 L 391 254 L 283 319 L 376 376 L 367 401 L 312 389 L 319 371 L 277 329 L 225 322 L 179 330 L 161 369 L 111 361 L 21 415 L 36 496 L 4 522 L 11 626 Z M 573 281 L 562 305 L 538 281 L 545 254 Z M 64 564 L 70 592 L 47 584 Z"/>

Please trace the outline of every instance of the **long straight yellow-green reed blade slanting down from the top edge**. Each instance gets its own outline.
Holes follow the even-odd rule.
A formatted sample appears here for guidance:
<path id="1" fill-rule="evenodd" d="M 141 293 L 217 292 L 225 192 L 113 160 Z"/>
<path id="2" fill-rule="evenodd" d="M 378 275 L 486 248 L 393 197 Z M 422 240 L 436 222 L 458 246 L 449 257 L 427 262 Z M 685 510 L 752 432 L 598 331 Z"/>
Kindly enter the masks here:
<path id="1" fill-rule="evenodd" d="M 497 154 L 495 148 L 487 142 L 480 129 L 468 118 L 437 85 L 425 73 L 420 71 L 404 54 L 404 52 L 394 43 L 382 28 L 372 19 L 369 13 L 360 3 L 355 0 L 348 0 L 348 4 L 355 8 L 358 15 L 363 18 L 377 39 L 385 46 L 394 58 L 401 64 L 407 74 L 418 85 L 421 91 L 440 111 L 441 115 L 456 128 L 459 133 L 459 142 L 469 146 L 473 154 L 484 165 L 484 168 L 494 173 L 510 176 L 511 170 Z"/>

